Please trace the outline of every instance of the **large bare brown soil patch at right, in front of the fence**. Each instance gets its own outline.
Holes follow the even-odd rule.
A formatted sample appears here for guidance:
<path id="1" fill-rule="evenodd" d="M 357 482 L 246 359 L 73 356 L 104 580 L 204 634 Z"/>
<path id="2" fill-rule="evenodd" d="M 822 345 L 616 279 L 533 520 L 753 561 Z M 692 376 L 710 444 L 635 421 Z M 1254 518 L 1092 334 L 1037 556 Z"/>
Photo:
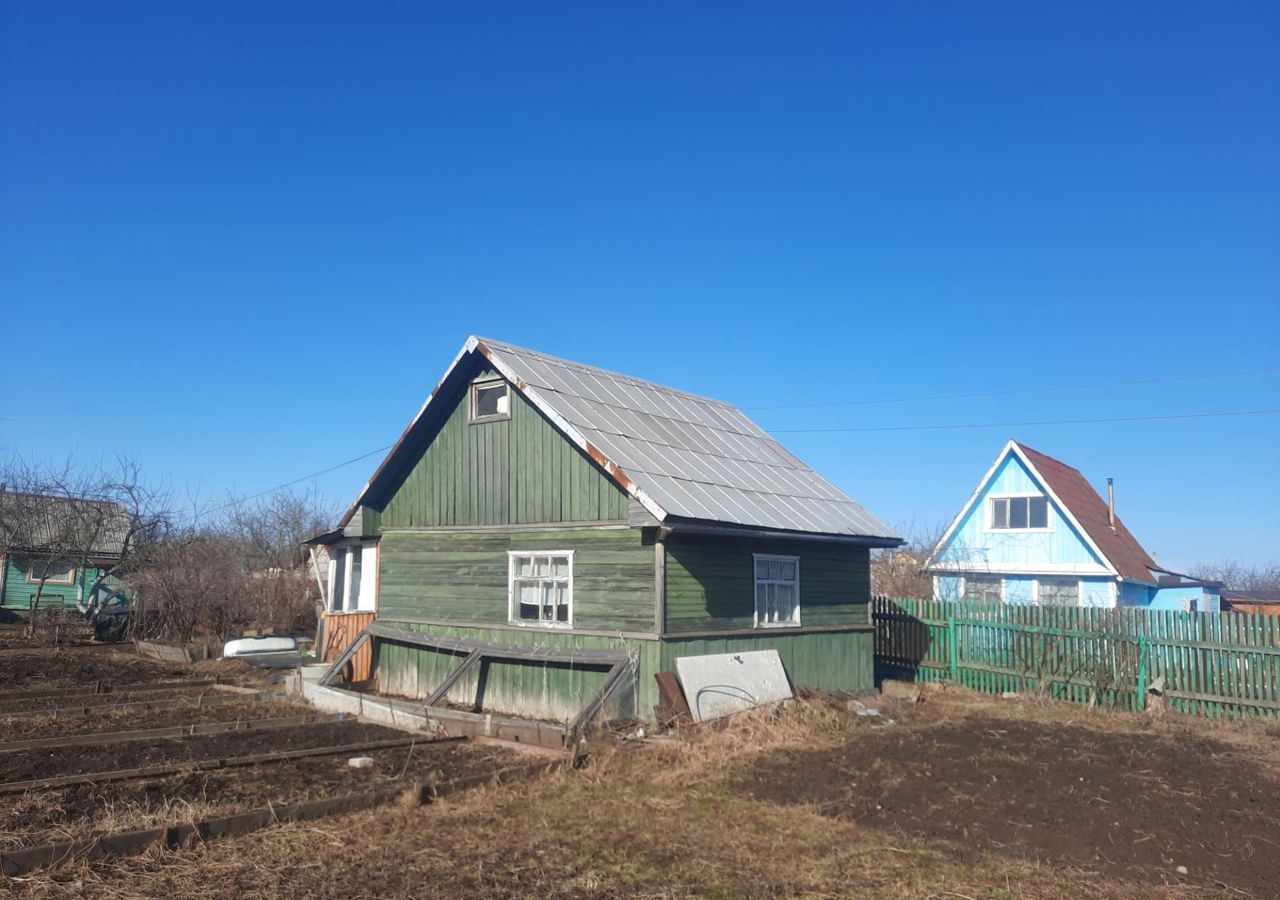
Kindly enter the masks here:
<path id="1" fill-rule="evenodd" d="M 1280 880 L 1280 781 L 1208 737 L 972 717 L 769 754 L 736 787 L 940 839 L 968 863 L 1001 854 L 1256 896 Z"/>

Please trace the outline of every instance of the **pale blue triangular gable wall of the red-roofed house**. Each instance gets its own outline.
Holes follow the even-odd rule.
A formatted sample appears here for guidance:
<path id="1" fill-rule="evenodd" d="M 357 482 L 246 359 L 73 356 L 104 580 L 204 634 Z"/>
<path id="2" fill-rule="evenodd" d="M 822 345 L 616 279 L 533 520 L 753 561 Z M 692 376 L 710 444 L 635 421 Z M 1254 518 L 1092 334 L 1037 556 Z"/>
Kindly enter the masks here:
<path id="1" fill-rule="evenodd" d="M 1050 503 L 1048 530 L 1004 531 L 987 527 L 987 508 L 1001 494 L 1046 494 L 1044 486 L 1012 452 L 996 467 L 973 504 L 938 554 L 938 563 L 957 563 L 978 570 L 1000 571 L 1004 563 L 1105 565 L 1080 534 Z"/>

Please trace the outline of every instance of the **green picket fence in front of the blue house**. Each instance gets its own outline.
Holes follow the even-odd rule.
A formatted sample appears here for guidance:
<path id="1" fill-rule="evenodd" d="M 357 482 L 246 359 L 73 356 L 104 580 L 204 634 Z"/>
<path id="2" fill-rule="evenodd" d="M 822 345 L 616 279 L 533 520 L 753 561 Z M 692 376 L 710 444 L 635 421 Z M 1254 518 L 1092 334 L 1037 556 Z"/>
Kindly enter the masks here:
<path id="1" fill-rule="evenodd" d="M 1208 718 L 1280 717 L 1280 617 L 872 600 L 878 677 Z"/>

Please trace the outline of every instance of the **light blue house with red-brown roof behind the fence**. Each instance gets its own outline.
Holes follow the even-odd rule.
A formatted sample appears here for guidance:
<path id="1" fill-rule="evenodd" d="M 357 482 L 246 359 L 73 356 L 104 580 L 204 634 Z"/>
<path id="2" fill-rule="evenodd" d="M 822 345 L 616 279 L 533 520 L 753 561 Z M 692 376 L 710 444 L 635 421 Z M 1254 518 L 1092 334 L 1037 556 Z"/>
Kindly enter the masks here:
<path id="1" fill-rule="evenodd" d="M 1221 585 L 1161 568 L 1071 466 L 1010 440 L 925 563 L 945 600 L 1217 612 Z"/>

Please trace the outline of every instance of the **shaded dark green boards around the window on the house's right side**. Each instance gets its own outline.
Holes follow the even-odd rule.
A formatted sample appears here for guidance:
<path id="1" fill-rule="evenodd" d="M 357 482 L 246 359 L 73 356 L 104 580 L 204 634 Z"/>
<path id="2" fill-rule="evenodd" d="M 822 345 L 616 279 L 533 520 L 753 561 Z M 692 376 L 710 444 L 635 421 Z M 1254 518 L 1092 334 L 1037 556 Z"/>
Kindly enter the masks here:
<path id="1" fill-rule="evenodd" d="M 667 539 L 666 632 L 753 627 L 753 553 L 800 557 L 803 626 L 870 623 L 870 558 L 864 547 L 795 539 L 672 535 Z"/>

